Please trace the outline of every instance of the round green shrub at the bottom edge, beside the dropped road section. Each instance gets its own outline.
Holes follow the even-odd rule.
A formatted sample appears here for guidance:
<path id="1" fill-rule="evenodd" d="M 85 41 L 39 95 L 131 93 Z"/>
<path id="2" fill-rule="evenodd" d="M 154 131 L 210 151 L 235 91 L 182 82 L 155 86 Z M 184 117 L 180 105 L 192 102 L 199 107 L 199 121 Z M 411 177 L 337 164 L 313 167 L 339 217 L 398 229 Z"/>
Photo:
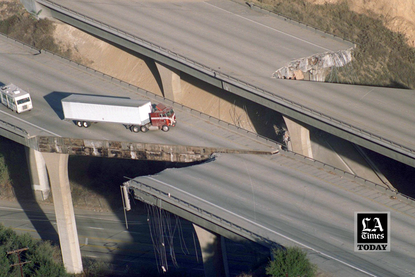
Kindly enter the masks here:
<path id="1" fill-rule="evenodd" d="M 312 264 L 307 253 L 301 248 L 287 247 L 286 249 L 273 249 L 273 261 L 265 268 L 266 273 L 272 277 L 314 277 L 317 267 Z"/>

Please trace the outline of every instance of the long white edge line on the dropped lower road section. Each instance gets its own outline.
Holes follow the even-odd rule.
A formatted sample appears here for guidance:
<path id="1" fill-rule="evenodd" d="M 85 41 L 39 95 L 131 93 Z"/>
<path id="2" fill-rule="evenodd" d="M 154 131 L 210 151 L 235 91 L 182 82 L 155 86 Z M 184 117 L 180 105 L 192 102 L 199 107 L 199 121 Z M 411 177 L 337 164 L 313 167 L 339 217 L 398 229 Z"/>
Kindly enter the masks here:
<path id="1" fill-rule="evenodd" d="M 328 258 L 330 258 L 330 259 L 332 259 L 332 260 L 334 260 L 334 261 L 337 261 L 337 262 L 339 262 L 339 263 L 341 263 L 341 264 L 343 264 L 343 265 L 346 265 L 346 266 L 348 266 L 348 267 L 350 267 L 350 268 L 352 268 L 352 269 L 355 269 L 355 270 L 357 270 L 357 271 L 360 271 L 360 272 L 365 273 L 365 274 L 367 274 L 367 275 L 370 275 L 370 276 L 372 276 L 372 277 L 378 277 L 378 276 L 373 275 L 373 274 L 371 274 L 371 273 L 369 273 L 369 272 L 367 272 L 367 271 L 364 271 L 364 270 L 362 270 L 362 269 L 360 269 L 360 268 L 357 268 L 357 267 L 352 266 L 352 265 L 350 265 L 350 264 L 348 264 L 348 263 L 346 263 L 346 262 L 343 262 L 343 261 L 341 261 L 341 260 L 339 260 L 339 259 L 337 259 L 337 258 L 334 258 L 334 257 L 332 257 L 332 256 L 330 256 L 330 255 L 328 255 L 328 254 L 325 254 L 325 253 L 323 253 L 323 252 L 321 252 L 321 251 L 318 251 L 317 249 L 314 249 L 314 248 L 312 248 L 312 247 L 310 247 L 310 246 L 307 246 L 307 245 L 305 245 L 305 244 L 303 244 L 303 243 L 301 243 L 301 242 L 299 242 L 299 241 L 296 241 L 295 239 L 292 239 L 292 238 L 290 238 L 290 237 L 288 237 L 288 236 L 286 236 L 286 235 L 283 235 L 282 233 L 279 233 L 279 232 L 277 232 L 277 231 L 274 231 L 274 230 L 271 230 L 271 229 L 269 229 L 269 228 L 266 228 L 265 226 L 262 226 L 262 225 L 260 225 L 260 224 L 258 224 L 258 223 L 255 223 L 255 222 L 253 222 L 253 221 L 251 221 L 251 220 L 249 220 L 249 219 L 247 219 L 247 218 L 244 218 L 243 216 L 237 215 L 237 214 L 235 214 L 235 213 L 233 213 L 233 212 L 231 212 L 231 211 L 228 211 L 228 210 L 226 210 L 226 209 L 224 209 L 224 208 L 222 208 L 222 207 L 219 207 L 218 205 L 215 205 L 215 204 L 213 204 L 213 203 L 210 203 L 209 201 L 207 201 L 207 200 L 205 200 L 205 199 L 202 199 L 202 198 L 200 198 L 200 197 L 198 197 L 198 196 L 196 196 L 196 195 L 193 195 L 193 194 L 191 194 L 191 193 L 189 193 L 189 192 L 186 192 L 186 191 L 184 191 L 184 190 L 182 190 L 182 189 L 180 189 L 180 188 L 177 188 L 177 187 L 175 187 L 175 186 L 173 186 L 173 185 L 166 184 L 166 183 L 164 183 L 164 182 L 162 182 L 162 181 L 156 180 L 156 179 L 151 178 L 151 177 L 149 177 L 149 176 L 145 176 L 144 178 L 151 179 L 151 180 L 153 180 L 153 181 L 155 181 L 155 182 L 157 182 L 157 183 L 160 183 L 160 184 L 163 184 L 163 185 L 167 185 L 167 186 L 169 186 L 169 187 L 171 187 L 171 188 L 177 189 L 178 191 L 181 191 L 181 192 L 183 192 L 184 194 L 190 195 L 190 196 L 192 196 L 192 197 L 194 197 L 194 198 L 196 198 L 196 199 L 198 199 L 198 200 L 200 200 L 200 201 L 202 201 L 202 202 L 205 202 L 205 203 L 207 203 L 207 204 L 209 204 L 209 205 L 212 205 L 213 207 L 216 207 L 216 208 L 218 208 L 218 209 L 220 209 L 220 210 L 222 210 L 222 211 L 225 211 L 225 212 L 227 212 L 227 213 L 229 213 L 229 214 L 231 214 L 231 215 L 234 215 L 234 216 L 236 216 L 236 217 L 238 217 L 238 218 L 240 218 L 240 219 L 243 219 L 243 220 L 245 220 L 245 221 L 249 222 L 250 224 L 253 224 L 253 225 L 257 226 L 257 227 L 260 227 L 260 228 L 263 228 L 263 229 L 265 229 L 265 230 L 267 230 L 267 231 L 270 231 L 270 232 L 272 232 L 272 233 L 275 233 L 275 234 L 277 234 L 277 235 L 279 235 L 279 236 L 281 236 L 281 237 L 283 237 L 283 238 L 285 238 L 285 239 L 288 239 L 288 240 L 290 240 L 290 241 L 292 241 L 292 242 L 295 242 L 295 243 L 297 243 L 297 244 L 299 244 L 299 245 L 301 245 L 301 246 L 304 246 L 304 247 L 306 247 L 306 248 L 308 248 L 308 249 L 310 249 L 310 250 L 313 250 L 313 251 L 314 251 L 314 252 L 316 252 L 316 253 L 319 253 L 319 254 L 321 254 L 321 255 L 323 255 L 323 256 L 326 256 L 326 257 L 328 257 Z"/>

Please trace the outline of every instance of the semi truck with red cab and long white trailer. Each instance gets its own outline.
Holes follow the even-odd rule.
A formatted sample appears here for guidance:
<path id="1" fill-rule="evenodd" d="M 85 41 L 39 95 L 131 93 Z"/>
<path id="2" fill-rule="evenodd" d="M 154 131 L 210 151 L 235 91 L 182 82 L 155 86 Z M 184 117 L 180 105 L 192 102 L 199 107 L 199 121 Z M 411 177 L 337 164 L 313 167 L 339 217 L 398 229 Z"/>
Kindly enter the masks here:
<path id="1" fill-rule="evenodd" d="M 78 127 L 88 128 L 98 122 L 120 123 L 138 133 L 160 129 L 167 132 L 176 125 L 172 107 L 153 105 L 147 100 L 71 94 L 61 103 L 64 119 L 75 121 Z"/>

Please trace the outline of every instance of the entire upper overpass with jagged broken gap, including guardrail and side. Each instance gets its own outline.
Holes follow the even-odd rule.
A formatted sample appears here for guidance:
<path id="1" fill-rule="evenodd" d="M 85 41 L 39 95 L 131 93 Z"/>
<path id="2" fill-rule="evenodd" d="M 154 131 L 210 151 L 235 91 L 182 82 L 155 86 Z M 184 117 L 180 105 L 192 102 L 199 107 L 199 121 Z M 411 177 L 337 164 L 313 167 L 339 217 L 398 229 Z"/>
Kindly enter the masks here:
<path id="1" fill-rule="evenodd" d="M 22 2 L 35 14 L 42 9 L 42 16 L 153 58 L 168 78 L 185 72 L 415 166 L 414 91 L 270 78 L 287 62 L 350 42 L 224 0 Z"/>

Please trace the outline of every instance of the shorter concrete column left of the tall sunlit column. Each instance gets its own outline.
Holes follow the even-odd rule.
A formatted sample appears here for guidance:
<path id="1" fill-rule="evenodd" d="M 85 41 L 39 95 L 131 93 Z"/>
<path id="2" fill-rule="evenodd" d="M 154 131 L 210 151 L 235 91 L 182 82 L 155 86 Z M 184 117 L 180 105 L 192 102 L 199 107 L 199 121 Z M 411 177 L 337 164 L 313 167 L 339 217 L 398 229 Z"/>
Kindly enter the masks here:
<path id="1" fill-rule="evenodd" d="M 50 186 L 42 153 L 27 146 L 25 150 L 33 195 L 36 201 L 44 201 L 49 196 Z"/>

